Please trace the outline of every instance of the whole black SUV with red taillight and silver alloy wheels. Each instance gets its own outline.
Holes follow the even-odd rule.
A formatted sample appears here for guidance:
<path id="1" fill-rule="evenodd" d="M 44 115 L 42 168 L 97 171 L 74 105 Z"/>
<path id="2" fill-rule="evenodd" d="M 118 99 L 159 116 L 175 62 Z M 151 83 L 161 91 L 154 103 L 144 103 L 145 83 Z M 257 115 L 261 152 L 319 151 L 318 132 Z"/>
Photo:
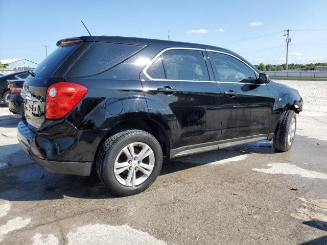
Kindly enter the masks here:
<path id="1" fill-rule="evenodd" d="M 292 146 L 298 91 L 224 48 L 110 36 L 57 46 L 30 71 L 18 124 L 22 149 L 49 171 L 94 169 L 130 195 L 153 183 L 164 156 L 262 139 L 278 151 Z"/>

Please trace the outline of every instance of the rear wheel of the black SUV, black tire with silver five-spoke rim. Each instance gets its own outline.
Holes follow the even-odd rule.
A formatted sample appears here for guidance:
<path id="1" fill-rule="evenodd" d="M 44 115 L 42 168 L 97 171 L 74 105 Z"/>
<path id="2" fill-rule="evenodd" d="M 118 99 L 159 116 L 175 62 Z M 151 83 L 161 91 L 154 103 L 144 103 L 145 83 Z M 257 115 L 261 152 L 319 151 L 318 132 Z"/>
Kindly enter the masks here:
<path id="1" fill-rule="evenodd" d="M 133 150 L 130 149 L 134 150 L 134 157 L 131 153 Z M 143 156 L 146 157 L 142 159 Z M 135 160 L 135 157 L 139 157 L 141 161 Z M 124 167 L 121 167 L 123 165 Z M 97 173 L 100 180 L 120 196 L 137 194 L 147 189 L 158 177 L 161 166 L 162 150 L 159 142 L 148 132 L 136 129 L 110 136 L 101 146 L 97 156 Z M 128 168 L 125 169 L 126 167 Z M 121 170 L 124 171 L 117 174 Z"/>

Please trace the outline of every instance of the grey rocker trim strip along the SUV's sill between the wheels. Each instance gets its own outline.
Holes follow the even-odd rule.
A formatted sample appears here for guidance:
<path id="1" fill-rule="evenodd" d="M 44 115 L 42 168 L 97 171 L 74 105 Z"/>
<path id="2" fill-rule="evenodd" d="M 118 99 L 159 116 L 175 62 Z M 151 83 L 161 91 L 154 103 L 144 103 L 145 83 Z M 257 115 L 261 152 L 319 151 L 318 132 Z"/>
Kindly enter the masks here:
<path id="1" fill-rule="evenodd" d="M 201 144 L 186 145 L 180 148 L 170 150 L 169 158 L 173 159 L 182 156 L 188 156 L 188 155 L 193 155 L 193 154 L 198 154 L 208 151 L 224 149 L 231 146 L 237 146 L 257 140 L 268 139 L 268 137 L 271 137 L 271 134 L 258 134 L 258 135 L 240 137 L 235 139 L 225 139 L 225 140 L 213 141 L 213 142 L 207 142 Z"/>

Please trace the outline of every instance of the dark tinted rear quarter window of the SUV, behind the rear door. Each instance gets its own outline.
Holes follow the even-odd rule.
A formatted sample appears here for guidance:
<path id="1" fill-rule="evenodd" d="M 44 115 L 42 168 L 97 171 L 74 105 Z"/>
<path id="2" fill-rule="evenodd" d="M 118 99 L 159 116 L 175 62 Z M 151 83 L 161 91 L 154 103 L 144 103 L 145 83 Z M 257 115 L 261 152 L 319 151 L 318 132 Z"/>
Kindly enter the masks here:
<path id="1" fill-rule="evenodd" d="M 129 58 L 142 48 L 136 45 L 95 42 L 79 57 L 66 76 L 82 77 L 98 74 Z"/>

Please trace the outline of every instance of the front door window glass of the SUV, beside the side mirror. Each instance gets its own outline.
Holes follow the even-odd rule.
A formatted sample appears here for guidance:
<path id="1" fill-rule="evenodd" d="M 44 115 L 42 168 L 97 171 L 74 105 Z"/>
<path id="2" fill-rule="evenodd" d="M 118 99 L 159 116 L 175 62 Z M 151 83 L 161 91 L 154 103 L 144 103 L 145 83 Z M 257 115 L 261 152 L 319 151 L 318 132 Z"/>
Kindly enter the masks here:
<path id="1" fill-rule="evenodd" d="M 255 72 L 243 62 L 225 54 L 211 52 L 211 55 L 217 81 L 255 83 Z"/>

